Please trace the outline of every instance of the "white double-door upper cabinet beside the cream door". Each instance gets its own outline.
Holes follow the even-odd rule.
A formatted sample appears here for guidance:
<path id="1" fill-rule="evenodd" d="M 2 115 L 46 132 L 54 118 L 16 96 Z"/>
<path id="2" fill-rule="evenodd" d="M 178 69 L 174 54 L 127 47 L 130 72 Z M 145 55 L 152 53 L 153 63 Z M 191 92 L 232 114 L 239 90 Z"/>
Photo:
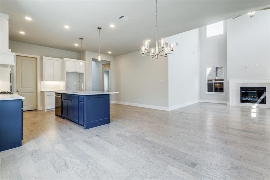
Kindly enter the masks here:
<path id="1" fill-rule="evenodd" d="M 43 56 L 43 81 L 62 81 L 62 59 Z"/>

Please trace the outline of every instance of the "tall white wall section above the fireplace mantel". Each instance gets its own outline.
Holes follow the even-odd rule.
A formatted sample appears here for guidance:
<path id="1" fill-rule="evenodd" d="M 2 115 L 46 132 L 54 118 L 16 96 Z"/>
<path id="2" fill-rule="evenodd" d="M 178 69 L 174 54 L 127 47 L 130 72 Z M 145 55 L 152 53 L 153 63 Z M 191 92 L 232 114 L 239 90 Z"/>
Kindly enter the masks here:
<path id="1" fill-rule="evenodd" d="M 270 79 L 270 10 L 228 19 L 227 49 L 228 80 Z"/>

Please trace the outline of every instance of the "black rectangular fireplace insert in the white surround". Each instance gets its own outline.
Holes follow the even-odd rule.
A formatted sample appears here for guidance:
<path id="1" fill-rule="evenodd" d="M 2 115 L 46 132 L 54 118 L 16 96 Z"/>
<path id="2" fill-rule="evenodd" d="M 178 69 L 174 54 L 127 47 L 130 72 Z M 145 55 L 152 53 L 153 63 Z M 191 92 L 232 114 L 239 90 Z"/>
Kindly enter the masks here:
<path id="1" fill-rule="evenodd" d="M 241 103 L 266 104 L 265 87 L 241 87 Z"/>

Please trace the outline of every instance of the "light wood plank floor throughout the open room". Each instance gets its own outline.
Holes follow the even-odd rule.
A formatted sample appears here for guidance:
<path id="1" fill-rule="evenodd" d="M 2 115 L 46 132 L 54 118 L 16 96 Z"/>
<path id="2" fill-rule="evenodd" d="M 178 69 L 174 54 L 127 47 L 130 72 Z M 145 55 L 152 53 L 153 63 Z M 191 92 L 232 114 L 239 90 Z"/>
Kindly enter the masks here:
<path id="1" fill-rule="evenodd" d="M 0 153 L 0 179 L 270 179 L 270 109 L 111 104 L 111 123 L 88 130 L 28 111 L 23 139 Z"/>

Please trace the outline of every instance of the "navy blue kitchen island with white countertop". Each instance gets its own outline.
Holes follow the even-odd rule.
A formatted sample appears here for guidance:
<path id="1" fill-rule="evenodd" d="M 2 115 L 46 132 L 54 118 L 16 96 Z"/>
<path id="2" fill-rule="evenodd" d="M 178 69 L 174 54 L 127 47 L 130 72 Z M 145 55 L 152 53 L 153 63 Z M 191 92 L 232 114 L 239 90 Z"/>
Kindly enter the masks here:
<path id="1" fill-rule="evenodd" d="M 103 91 L 56 91 L 61 94 L 61 114 L 84 129 L 110 123 L 110 94 Z"/>

